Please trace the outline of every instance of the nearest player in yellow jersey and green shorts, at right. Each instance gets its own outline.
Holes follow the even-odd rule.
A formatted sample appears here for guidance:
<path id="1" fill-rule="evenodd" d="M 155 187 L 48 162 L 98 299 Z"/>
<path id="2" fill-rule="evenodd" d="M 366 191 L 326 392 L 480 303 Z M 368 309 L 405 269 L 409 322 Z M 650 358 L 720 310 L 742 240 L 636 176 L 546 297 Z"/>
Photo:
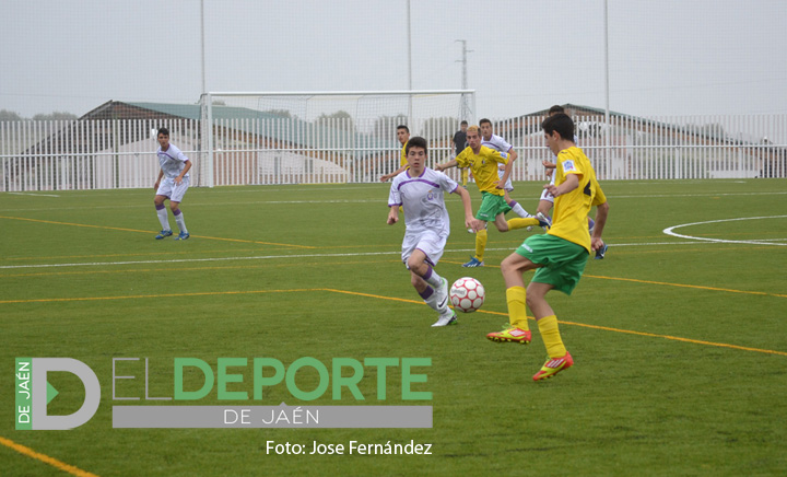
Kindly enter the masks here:
<path id="1" fill-rule="evenodd" d="M 544 186 L 554 198 L 552 228 L 542 235 L 528 237 L 515 253 L 501 264 L 506 283 L 509 324 L 502 331 L 486 337 L 501 342 L 530 342 L 527 309 L 538 324 L 549 359 L 533 381 L 552 377 L 571 368 L 574 359 L 566 351 L 557 327 L 557 317 L 547 302 L 552 290 L 571 294 L 582 278 L 590 251 L 603 246 L 601 233 L 607 223 L 609 205 L 596 181 L 590 161 L 574 143 L 574 121 L 560 113 L 542 124 L 547 144 L 557 156 L 554 184 Z M 588 232 L 587 214 L 596 206 L 596 226 Z M 536 270 L 525 290 L 522 274 Z"/>

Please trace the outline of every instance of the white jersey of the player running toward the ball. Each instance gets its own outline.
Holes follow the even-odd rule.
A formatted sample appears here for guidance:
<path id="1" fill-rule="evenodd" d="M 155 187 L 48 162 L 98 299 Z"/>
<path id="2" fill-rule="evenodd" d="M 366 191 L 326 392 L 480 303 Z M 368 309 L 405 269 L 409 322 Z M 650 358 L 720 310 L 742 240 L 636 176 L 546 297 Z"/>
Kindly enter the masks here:
<path id="1" fill-rule="evenodd" d="M 393 178 L 388 196 L 388 207 L 402 206 L 406 234 L 431 231 L 448 236 L 450 219 L 445 207 L 445 194 L 459 185 L 443 174 L 425 167 L 418 177 L 410 177 L 410 170 Z"/>

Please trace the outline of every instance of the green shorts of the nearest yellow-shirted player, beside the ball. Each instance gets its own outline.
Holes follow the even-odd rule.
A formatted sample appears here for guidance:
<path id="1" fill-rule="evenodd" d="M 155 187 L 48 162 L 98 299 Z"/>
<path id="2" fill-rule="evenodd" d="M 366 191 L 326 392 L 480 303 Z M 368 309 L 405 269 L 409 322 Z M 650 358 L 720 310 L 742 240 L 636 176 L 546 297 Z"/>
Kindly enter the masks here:
<path id="1" fill-rule="evenodd" d="M 536 269 L 532 281 L 554 286 L 565 294 L 576 288 L 590 255 L 582 245 L 550 234 L 530 235 L 516 253 L 542 265 Z"/>

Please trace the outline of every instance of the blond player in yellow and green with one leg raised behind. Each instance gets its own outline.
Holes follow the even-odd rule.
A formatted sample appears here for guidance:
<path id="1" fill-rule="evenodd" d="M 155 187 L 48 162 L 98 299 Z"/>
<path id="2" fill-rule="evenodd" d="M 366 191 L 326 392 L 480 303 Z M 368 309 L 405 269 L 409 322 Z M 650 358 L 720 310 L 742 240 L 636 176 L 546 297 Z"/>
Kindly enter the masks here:
<path id="1" fill-rule="evenodd" d="M 475 178 L 475 185 L 481 191 L 481 208 L 475 218 L 484 222 L 493 222 L 498 231 L 522 229 L 530 225 L 547 226 L 536 218 L 512 219 L 506 221 L 505 214 L 510 210 L 506 203 L 503 189 L 506 179 L 510 176 L 513 161 L 506 152 L 481 146 L 481 135 L 478 126 L 470 126 L 467 130 L 468 147 L 456 158 L 443 164 L 435 165 L 435 170 L 445 171 L 449 167 L 470 167 Z M 501 178 L 497 175 L 497 164 L 505 164 L 505 173 Z M 483 267 L 483 256 L 486 249 L 486 226 L 475 233 L 475 255 L 462 267 Z"/>

